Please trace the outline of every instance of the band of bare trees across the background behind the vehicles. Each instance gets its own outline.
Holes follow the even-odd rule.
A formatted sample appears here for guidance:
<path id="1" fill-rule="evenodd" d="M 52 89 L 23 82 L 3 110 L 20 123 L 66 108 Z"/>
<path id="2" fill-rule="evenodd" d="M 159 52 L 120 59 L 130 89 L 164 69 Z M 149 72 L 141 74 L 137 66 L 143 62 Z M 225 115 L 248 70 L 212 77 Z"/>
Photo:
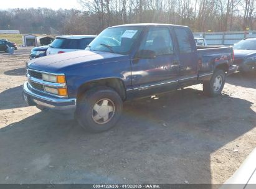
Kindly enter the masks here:
<path id="1" fill-rule="evenodd" d="M 255 0 L 78 0 L 83 11 L 10 9 L 0 11 L 0 27 L 40 33 L 98 34 L 118 24 L 159 22 L 189 25 L 194 31 L 255 29 Z M 22 23 L 22 24 L 21 24 Z M 47 29 L 48 28 L 48 29 Z"/>

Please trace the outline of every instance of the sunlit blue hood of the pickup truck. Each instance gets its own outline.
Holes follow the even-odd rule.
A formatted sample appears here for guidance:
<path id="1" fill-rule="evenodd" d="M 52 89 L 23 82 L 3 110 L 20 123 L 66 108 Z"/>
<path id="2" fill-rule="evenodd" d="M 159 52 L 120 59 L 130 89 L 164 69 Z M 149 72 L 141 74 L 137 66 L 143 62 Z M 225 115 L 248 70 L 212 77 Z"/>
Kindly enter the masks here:
<path id="1" fill-rule="evenodd" d="M 127 59 L 129 55 L 120 55 L 110 52 L 98 52 L 90 50 L 78 50 L 75 52 L 60 53 L 46 57 L 36 58 L 27 62 L 29 68 L 39 71 L 52 71 L 59 73 L 63 68 L 75 64 L 97 64 L 105 62 L 114 62 Z"/>

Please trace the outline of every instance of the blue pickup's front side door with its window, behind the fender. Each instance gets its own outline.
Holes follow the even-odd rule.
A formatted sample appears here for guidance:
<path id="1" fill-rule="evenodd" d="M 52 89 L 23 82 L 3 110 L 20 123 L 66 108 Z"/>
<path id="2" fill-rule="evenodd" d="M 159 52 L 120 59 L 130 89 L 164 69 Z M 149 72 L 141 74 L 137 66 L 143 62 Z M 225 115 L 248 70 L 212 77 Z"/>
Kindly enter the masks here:
<path id="1" fill-rule="evenodd" d="M 169 27 L 149 27 L 138 52 L 153 50 L 156 58 L 135 58 L 131 62 L 131 78 L 138 95 L 159 93 L 178 86 L 179 59 L 174 52 Z"/>

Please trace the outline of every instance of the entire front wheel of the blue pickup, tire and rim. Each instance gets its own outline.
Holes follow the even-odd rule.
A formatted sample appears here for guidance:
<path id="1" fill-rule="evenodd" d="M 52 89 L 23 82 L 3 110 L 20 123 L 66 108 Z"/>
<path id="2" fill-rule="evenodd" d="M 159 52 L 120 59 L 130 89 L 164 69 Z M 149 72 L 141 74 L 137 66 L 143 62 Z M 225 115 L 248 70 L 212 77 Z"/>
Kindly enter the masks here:
<path id="1" fill-rule="evenodd" d="M 89 132 L 103 132 L 115 126 L 123 109 L 123 101 L 115 90 L 98 86 L 78 100 L 77 121 Z"/>

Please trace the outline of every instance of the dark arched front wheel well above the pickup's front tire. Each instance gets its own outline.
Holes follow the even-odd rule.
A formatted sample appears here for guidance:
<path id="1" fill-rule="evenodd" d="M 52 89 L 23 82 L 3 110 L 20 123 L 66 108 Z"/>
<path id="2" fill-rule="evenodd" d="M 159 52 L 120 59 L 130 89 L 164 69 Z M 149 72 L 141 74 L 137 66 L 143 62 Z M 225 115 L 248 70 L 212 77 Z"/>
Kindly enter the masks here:
<path id="1" fill-rule="evenodd" d="M 125 100 L 126 98 L 125 85 L 123 81 L 118 78 L 108 78 L 83 83 L 83 85 L 78 88 L 77 99 L 80 99 L 85 91 L 90 90 L 96 86 L 108 86 L 113 88 L 113 90 L 115 90 L 116 93 L 120 95 L 121 99 Z"/>

